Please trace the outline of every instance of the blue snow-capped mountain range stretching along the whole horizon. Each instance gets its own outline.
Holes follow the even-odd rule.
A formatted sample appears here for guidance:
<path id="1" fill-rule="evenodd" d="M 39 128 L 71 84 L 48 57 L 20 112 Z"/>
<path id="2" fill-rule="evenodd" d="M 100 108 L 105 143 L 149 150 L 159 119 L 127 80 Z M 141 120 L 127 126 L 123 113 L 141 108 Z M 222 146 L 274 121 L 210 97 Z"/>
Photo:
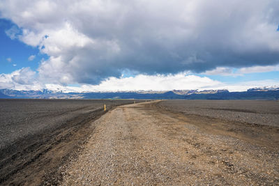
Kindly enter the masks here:
<path id="1" fill-rule="evenodd" d="M 279 100 L 279 87 L 250 88 L 243 92 L 227 90 L 116 91 L 64 93 L 63 91 L 17 91 L 0 89 L 0 98 L 36 99 L 157 99 L 157 100 Z"/>

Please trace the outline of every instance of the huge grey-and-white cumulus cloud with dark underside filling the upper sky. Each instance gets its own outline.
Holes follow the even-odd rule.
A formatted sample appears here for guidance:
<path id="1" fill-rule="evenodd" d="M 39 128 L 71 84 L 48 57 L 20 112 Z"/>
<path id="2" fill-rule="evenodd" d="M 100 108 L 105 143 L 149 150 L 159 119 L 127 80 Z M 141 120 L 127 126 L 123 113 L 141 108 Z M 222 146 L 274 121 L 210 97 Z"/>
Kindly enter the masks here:
<path id="1" fill-rule="evenodd" d="M 54 84 L 279 63 L 276 0 L 2 0 L 0 11 L 50 56 L 38 75 Z"/>

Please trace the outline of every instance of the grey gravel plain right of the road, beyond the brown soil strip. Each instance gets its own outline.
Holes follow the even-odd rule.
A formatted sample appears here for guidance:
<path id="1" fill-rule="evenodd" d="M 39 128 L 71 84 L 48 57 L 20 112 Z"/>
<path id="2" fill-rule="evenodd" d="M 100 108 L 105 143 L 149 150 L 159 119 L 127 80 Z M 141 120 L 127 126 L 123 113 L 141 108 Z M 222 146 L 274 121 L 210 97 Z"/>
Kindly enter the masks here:
<path id="1" fill-rule="evenodd" d="M 279 127 L 279 102 L 262 100 L 165 100 L 169 111 L 209 116 L 227 121 Z"/>

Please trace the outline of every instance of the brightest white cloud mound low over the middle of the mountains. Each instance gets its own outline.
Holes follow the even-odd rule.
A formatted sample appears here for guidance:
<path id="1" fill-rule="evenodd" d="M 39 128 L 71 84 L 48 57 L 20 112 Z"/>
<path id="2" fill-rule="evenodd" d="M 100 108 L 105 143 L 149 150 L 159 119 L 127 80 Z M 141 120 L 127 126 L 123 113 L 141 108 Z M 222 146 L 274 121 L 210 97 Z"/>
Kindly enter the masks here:
<path id="1" fill-rule="evenodd" d="M 84 90 L 96 91 L 169 91 L 174 89 L 199 89 L 218 86 L 221 83 L 196 75 L 179 73 L 176 75 L 137 75 L 135 77 L 110 77 L 102 81 L 99 85 L 84 85 Z"/>

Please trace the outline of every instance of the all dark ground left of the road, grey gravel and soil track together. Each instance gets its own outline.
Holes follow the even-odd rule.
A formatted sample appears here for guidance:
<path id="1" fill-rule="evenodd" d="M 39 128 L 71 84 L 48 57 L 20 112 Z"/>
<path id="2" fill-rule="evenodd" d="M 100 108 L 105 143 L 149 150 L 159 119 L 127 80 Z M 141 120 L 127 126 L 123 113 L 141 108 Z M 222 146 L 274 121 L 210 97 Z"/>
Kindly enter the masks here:
<path id="1" fill-rule="evenodd" d="M 40 184 L 57 177 L 93 132 L 89 122 L 134 100 L 0 100 L 0 185 Z"/>

